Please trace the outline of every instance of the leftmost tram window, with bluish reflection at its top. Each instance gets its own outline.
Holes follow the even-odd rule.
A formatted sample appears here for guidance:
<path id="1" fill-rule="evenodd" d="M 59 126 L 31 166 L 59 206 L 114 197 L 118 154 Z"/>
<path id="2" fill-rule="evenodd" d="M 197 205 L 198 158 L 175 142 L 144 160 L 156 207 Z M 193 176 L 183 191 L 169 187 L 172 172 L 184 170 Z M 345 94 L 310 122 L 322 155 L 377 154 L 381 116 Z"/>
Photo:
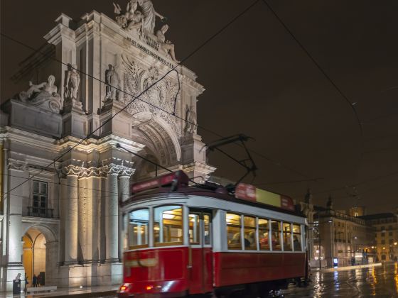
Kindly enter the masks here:
<path id="1" fill-rule="evenodd" d="M 129 214 L 129 249 L 148 246 L 149 209 L 131 211 Z"/>

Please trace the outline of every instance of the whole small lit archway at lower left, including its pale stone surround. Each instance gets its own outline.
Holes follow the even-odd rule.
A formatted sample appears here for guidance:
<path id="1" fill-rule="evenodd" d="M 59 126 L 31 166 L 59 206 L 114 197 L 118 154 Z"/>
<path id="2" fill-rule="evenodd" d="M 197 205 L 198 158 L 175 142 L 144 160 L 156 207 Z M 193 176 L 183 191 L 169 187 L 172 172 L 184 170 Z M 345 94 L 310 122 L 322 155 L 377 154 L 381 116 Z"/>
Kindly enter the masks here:
<path id="1" fill-rule="evenodd" d="M 58 238 L 53 228 L 43 223 L 28 224 L 23 230 L 23 267 L 28 282 L 44 272 L 42 283 L 54 285 L 58 263 Z"/>

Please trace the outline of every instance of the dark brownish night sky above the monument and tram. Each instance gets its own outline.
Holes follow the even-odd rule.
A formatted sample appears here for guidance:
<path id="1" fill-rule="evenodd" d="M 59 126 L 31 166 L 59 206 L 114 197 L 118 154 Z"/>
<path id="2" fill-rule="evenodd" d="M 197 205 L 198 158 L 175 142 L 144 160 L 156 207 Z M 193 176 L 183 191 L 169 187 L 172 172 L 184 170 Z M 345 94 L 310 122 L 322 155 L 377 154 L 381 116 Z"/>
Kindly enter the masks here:
<path id="1" fill-rule="evenodd" d="M 124 7 L 126 0 L 117 0 Z M 168 18 L 166 38 L 179 60 L 253 1 L 154 0 Z M 259 1 L 184 65 L 206 91 L 200 126 L 230 136 L 244 133 L 259 170 L 254 184 L 316 204 L 331 194 L 336 209 L 397 208 L 398 2 L 269 1 L 350 104 Z M 113 17 L 112 0 L 1 1 L 1 32 L 39 48 L 60 13 L 79 19 L 96 10 Z M 160 22 L 158 22 L 160 23 Z M 32 52 L 1 38 L 1 102 L 26 89 L 9 79 Z M 397 88 L 394 88 L 397 87 Z M 205 143 L 218 137 L 199 129 Z M 224 148 L 244 158 L 241 148 Z M 210 153 L 217 176 L 237 180 L 244 169 Z M 315 178 L 322 178 L 314 181 Z M 245 182 L 252 182 L 248 177 Z M 279 183 L 284 182 L 284 183 Z M 355 189 L 353 188 L 355 185 Z M 356 196 L 353 196 L 357 194 Z"/>

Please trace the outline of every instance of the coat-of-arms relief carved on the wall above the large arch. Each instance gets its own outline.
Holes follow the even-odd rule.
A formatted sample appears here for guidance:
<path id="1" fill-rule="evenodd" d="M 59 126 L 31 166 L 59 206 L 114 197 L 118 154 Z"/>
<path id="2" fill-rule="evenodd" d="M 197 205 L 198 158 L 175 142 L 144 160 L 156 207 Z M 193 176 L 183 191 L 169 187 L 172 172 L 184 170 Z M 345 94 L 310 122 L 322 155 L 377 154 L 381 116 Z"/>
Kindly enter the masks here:
<path id="1" fill-rule="evenodd" d="M 125 70 L 123 100 L 127 104 L 134 99 L 134 97 L 128 94 L 138 96 L 158 80 L 159 74 L 156 67 L 150 67 L 149 70 L 145 70 L 125 55 L 122 55 L 122 62 Z M 144 94 L 141 94 L 140 99 L 136 99 L 129 104 L 127 111 L 133 116 L 139 112 L 149 112 L 154 116 L 158 116 L 168 124 L 178 137 L 181 137 L 182 133 L 179 121 L 177 121 L 175 116 L 171 115 L 174 112 L 174 105 L 179 105 L 180 96 L 177 92 L 177 84 L 170 82 L 166 78 L 162 79 L 144 92 Z M 177 100 L 175 101 L 176 96 Z M 176 109 L 176 116 L 179 116 L 178 109 Z"/>

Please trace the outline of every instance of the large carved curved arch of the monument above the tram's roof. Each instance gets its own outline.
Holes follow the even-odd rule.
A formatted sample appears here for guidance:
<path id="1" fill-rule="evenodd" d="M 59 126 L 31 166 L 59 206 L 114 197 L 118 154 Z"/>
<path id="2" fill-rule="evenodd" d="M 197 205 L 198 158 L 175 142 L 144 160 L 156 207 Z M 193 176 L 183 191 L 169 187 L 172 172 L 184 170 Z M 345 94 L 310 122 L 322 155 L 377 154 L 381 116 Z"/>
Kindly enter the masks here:
<path id="1" fill-rule="evenodd" d="M 150 112 L 139 112 L 133 116 L 133 126 L 141 132 L 140 143 L 146 152 L 156 156 L 163 166 L 175 165 L 181 160 L 178 136 L 160 116 Z"/>

